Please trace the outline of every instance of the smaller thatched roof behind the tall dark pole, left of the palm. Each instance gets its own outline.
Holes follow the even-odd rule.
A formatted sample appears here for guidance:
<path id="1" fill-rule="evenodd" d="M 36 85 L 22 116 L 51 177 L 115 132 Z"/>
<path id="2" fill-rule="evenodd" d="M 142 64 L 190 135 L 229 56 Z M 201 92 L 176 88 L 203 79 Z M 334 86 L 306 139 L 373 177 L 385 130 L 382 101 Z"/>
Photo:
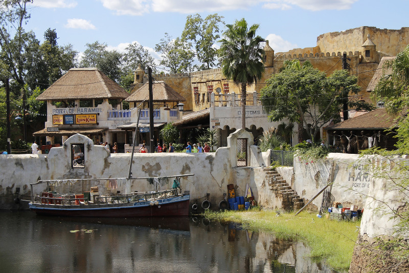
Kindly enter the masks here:
<path id="1" fill-rule="evenodd" d="M 154 81 L 152 84 L 153 102 L 179 102 L 186 99 L 179 95 L 173 88 L 164 81 Z M 133 92 L 125 101 L 142 102 L 149 100 L 149 83 Z"/>

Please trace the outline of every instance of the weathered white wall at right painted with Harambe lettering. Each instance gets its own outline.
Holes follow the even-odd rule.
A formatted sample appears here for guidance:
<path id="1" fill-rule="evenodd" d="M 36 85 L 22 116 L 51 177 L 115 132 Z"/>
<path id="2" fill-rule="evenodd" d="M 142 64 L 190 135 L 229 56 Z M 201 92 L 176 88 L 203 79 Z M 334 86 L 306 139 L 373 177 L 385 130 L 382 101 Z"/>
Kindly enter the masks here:
<path id="1" fill-rule="evenodd" d="M 394 158 L 394 161 L 396 160 L 409 163 L 406 158 Z M 403 192 L 396 190 L 393 188 L 392 180 L 371 176 L 374 165 L 371 165 L 370 162 L 376 166 L 382 164 L 384 174 L 393 177 L 394 174 L 388 173 L 391 170 L 389 160 L 377 156 L 359 157 L 356 154 L 330 153 L 328 159 L 322 162 L 303 162 L 294 158 L 292 187 L 302 198 L 310 200 L 330 181 L 331 169 L 334 166 L 334 184 L 331 194 L 335 197 L 335 201 L 342 202 L 344 207 L 355 204 L 359 209 L 363 209 L 361 235 L 367 234 L 372 238 L 379 235 L 393 236 L 397 221 L 390 219 L 391 214 L 388 213 L 390 210 L 378 210 L 384 204 L 396 209 L 409 203 L 409 189 Z M 408 176 L 409 173 L 399 175 Z M 320 208 L 322 199 L 321 194 L 312 203 Z M 409 238 L 409 232 L 403 236 Z"/>

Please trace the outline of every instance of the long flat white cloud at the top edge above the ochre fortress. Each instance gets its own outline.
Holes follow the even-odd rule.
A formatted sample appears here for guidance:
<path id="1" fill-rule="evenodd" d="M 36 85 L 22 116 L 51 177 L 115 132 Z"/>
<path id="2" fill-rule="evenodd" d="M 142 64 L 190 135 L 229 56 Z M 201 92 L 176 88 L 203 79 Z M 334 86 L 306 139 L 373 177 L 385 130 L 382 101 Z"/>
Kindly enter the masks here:
<path id="1" fill-rule="evenodd" d="M 290 9 L 291 6 L 298 6 L 305 10 L 346 10 L 358 0 L 267 0 L 263 8 L 267 9 Z"/>

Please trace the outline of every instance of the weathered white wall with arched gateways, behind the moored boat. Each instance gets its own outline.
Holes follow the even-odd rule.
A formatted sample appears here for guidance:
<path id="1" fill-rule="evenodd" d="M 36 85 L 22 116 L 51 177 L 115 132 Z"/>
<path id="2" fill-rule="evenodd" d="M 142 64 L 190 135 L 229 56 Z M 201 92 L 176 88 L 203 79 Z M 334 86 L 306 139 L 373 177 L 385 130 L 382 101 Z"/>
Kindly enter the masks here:
<path id="1" fill-rule="evenodd" d="M 248 148 L 253 144 L 253 135 L 244 130 L 237 130 L 232 134 L 232 138 L 248 138 Z M 89 147 L 86 147 L 89 143 Z M 85 168 L 71 168 L 71 145 L 84 144 L 85 146 Z M 30 184 L 37 180 L 48 179 L 80 179 L 80 178 L 118 178 L 127 177 L 131 154 L 118 153 L 109 154 L 103 146 L 93 145 L 92 140 L 84 135 L 76 134 L 69 138 L 66 148 L 52 148 L 48 156 L 46 155 L 0 155 L 0 196 L 5 196 L 15 192 L 15 188 L 20 188 L 20 194 L 29 196 Z M 180 179 L 183 190 L 190 191 L 191 201 L 205 200 L 207 193 L 210 193 L 212 208 L 216 209 L 218 203 L 223 200 L 223 193 L 227 193 L 227 185 L 234 184 L 238 189 L 238 194 L 244 194 L 246 184 L 254 184 L 254 174 L 252 167 L 236 167 L 237 144 L 232 141 L 231 147 L 217 149 L 215 153 L 137 153 L 133 155 L 132 177 L 157 177 L 172 176 L 193 173 Z M 248 149 L 248 151 L 252 151 Z M 257 149 L 256 149 L 257 151 Z M 260 157 L 260 158 L 258 158 Z M 253 158 L 251 162 L 258 164 L 266 160 L 268 156 L 263 156 L 257 152 L 249 155 Z M 263 162 L 265 166 L 269 162 Z M 255 165 L 254 167 L 260 167 Z M 120 190 L 125 193 L 129 191 L 153 191 L 153 185 L 147 179 L 131 180 L 126 188 L 124 180 L 118 180 L 118 189 L 109 188 L 108 180 L 101 180 L 98 183 L 91 181 L 80 181 L 72 185 L 70 181 L 61 184 L 55 189 L 60 193 L 82 193 L 89 191 L 90 187 L 99 186 L 101 194 L 116 193 Z M 173 179 L 161 180 L 162 190 L 170 189 Z M 34 186 L 34 193 L 46 190 L 46 184 Z M 3 208 L 10 208 L 11 204 L 2 198 Z M 9 200 L 10 201 L 10 200 Z"/>

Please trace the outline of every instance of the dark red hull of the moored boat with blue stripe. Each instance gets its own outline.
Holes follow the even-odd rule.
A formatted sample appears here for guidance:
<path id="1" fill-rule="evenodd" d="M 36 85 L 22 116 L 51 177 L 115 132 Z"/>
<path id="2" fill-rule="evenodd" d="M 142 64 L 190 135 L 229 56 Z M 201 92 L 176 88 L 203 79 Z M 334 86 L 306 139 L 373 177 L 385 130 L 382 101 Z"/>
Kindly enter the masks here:
<path id="1" fill-rule="evenodd" d="M 32 211 L 39 215 L 68 217 L 156 217 L 156 216 L 188 216 L 189 195 L 157 199 L 157 205 L 150 201 L 113 203 L 113 204 L 81 204 L 55 205 L 29 203 Z"/>

